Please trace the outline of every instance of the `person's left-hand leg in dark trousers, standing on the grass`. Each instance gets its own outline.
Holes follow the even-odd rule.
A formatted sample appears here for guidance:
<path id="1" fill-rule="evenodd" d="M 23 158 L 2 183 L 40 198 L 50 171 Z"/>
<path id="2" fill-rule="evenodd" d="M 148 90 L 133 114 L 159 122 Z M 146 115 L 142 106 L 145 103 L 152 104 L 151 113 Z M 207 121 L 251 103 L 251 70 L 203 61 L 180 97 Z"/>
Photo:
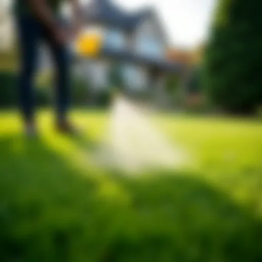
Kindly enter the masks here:
<path id="1" fill-rule="evenodd" d="M 30 133 L 30 130 L 34 132 L 33 81 L 37 68 L 37 47 L 40 30 L 37 23 L 30 16 L 19 16 L 16 22 L 20 51 L 19 105 L 26 129 Z"/>

